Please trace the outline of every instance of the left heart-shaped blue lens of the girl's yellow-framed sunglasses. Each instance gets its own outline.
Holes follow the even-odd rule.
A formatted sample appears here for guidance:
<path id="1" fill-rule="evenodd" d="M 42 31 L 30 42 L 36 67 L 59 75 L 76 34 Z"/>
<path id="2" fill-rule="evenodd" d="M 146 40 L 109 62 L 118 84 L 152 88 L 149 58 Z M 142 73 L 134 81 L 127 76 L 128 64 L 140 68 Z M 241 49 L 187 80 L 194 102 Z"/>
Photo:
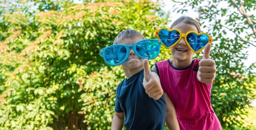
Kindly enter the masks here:
<path id="1" fill-rule="evenodd" d="M 158 36 L 167 48 L 180 39 L 180 33 L 176 30 L 168 31 L 167 29 L 162 29 L 159 31 Z"/>

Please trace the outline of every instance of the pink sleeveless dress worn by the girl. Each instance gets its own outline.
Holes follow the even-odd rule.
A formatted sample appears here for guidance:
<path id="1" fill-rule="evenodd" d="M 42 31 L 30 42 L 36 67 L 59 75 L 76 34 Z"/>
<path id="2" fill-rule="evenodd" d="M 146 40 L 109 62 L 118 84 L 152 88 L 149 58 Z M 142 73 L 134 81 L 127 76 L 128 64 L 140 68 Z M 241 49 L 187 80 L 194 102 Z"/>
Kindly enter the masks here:
<path id="1" fill-rule="evenodd" d="M 175 68 L 168 60 L 155 64 L 164 93 L 167 93 L 176 110 L 181 130 L 222 130 L 211 106 L 212 84 L 197 79 L 198 62 Z"/>

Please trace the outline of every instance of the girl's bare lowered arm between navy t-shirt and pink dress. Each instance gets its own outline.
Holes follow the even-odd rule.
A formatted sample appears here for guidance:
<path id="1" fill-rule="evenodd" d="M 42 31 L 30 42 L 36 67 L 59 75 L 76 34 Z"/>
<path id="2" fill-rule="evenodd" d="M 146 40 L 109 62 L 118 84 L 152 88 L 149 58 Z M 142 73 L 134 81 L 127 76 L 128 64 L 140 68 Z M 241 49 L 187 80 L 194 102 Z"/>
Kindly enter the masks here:
<path id="1" fill-rule="evenodd" d="M 164 99 L 166 102 L 165 123 L 168 130 L 180 130 L 173 102 L 171 101 L 167 93 L 164 93 Z"/>

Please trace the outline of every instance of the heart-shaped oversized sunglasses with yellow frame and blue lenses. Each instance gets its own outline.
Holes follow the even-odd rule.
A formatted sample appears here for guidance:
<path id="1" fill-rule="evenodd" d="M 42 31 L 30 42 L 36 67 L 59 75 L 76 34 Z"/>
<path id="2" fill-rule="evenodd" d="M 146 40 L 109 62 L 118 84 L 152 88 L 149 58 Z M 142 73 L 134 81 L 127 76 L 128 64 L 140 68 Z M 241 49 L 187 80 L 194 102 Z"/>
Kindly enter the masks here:
<path id="1" fill-rule="evenodd" d="M 204 49 L 207 43 L 212 42 L 212 37 L 207 33 L 197 33 L 195 31 L 189 31 L 186 34 L 181 33 L 179 29 L 160 28 L 155 31 L 155 35 L 158 39 L 162 40 L 162 44 L 166 49 L 175 46 L 180 42 L 182 37 L 186 44 L 189 46 L 193 53 L 198 53 Z"/>

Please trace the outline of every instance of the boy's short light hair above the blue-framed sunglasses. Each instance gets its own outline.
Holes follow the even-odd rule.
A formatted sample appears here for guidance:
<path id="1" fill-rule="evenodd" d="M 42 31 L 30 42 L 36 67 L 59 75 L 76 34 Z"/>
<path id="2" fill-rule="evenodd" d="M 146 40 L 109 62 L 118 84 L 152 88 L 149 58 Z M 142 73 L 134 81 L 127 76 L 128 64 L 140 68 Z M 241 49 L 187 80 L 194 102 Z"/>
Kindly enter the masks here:
<path id="1" fill-rule="evenodd" d="M 143 40 L 146 39 L 139 31 L 127 29 L 117 35 L 113 44 L 120 44 L 124 39 L 132 39 L 134 37 L 141 37 Z"/>

